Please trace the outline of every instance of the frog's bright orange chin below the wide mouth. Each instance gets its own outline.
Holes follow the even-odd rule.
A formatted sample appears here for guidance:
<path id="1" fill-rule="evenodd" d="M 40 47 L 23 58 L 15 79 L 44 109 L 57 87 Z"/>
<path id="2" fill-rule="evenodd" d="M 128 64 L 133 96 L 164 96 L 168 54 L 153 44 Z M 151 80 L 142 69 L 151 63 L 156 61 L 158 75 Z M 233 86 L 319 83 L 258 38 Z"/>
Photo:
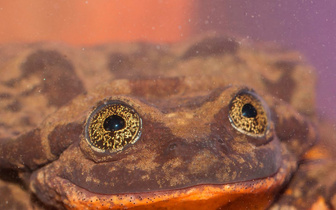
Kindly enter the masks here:
<path id="1" fill-rule="evenodd" d="M 168 209 L 236 209 L 244 205 L 266 208 L 274 200 L 281 186 L 296 170 L 293 164 L 283 162 L 272 176 L 230 184 L 202 184 L 176 190 L 97 194 L 76 186 L 69 180 L 56 177 L 53 186 L 59 200 L 69 209 L 120 209 L 120 208 L 168 208 Z"/>

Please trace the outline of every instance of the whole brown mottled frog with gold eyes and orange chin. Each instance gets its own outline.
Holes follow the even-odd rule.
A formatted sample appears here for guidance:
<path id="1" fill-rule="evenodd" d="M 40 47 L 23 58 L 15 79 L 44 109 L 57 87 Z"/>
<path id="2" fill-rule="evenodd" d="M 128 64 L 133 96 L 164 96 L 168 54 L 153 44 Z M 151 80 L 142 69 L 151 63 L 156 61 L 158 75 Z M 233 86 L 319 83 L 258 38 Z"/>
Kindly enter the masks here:
<path id="1" fill-rule="evenodd" d="M 335 207 L 315 72 L 294 50 L 204 35 L 0 52 L 1 208 Z"/>

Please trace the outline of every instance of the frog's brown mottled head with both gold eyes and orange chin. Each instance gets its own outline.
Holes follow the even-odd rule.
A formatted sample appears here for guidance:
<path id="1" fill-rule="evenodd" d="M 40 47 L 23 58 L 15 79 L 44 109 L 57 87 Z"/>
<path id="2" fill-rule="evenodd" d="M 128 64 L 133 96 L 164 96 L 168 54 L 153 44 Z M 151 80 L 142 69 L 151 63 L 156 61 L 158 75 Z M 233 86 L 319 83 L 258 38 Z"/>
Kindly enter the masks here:
<path id="1" fill-rule="evenodd" d="M 197 82 L 114 81 L 3 146 L 0 163 L 30 170 L 30 189 L 55 206 L 269 205 L 313 126 L 267 94 Z"/>

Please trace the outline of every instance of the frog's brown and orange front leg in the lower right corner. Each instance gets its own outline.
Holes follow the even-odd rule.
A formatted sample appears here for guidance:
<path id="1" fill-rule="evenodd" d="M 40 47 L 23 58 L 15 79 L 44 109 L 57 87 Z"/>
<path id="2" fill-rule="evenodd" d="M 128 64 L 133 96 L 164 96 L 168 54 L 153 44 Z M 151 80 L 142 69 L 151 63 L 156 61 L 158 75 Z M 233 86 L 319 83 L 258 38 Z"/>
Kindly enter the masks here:
<path id="1" fill-rule="evenodd" d="M 319 123 L 320 141 L 308 151 L 274 209 L 336 209 L 336 136 L 332 123 Z"/>

